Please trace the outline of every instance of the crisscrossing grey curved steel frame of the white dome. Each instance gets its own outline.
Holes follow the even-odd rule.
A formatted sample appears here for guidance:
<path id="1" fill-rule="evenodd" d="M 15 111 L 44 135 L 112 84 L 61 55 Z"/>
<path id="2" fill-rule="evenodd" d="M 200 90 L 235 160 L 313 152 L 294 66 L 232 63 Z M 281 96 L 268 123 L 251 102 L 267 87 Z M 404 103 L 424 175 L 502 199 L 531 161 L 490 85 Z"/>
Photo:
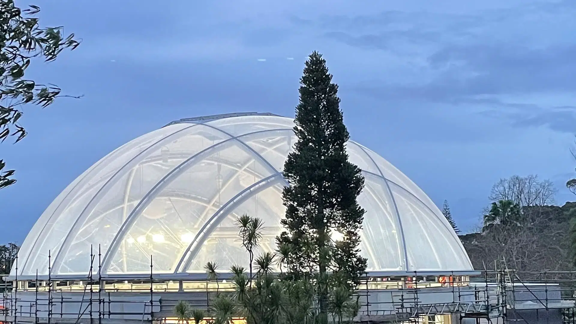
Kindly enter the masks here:
<path id="1" fill-rule="evenodd" d="M 180 122 L 184 122 L 184 120 L 181 120 Z M 161 180 L 159 180 L 142 197 L 142 199 L 138 202 L 138 204 L 135 206 L 135 208 L 132 210 L 132 212 L 126 218 L 124 218 L 124 222 L 120 226 L 119 231 L 116 233 L 115 237 L 111 241 L 111 244 L 106 249 L 106 253 L 104 255 L 103 263 L 101 266 L 103 273 L 106 273 L 108 271 L 108 268 L 109 268 L 109 266 L 111 266 L 111 263 L 112 263 L 112 258 L 114 257 L 116 251 L 119 248 L 119 244 L 123 241 L 123 238 L 128 234 L 128 231 L 130 231 L 130 228 L 132 228 L 132 226 L 134 225 L 134 222 L 138 219 L 138 216 L 146 209 L 147 205 L 149 205 L 150 202 L 154 198 L 157 197 L 157 194 L 160 194 L 162 192 L 162 190 L 164 190 L 164 188 L 166 186 L 168 186 L 170 183 L 172 183 L 172 181 L 174 179 L 176 179 L 183 172 L 185 172 L 188 169 L 190 169 L 191 167 L 193 167 L 196 163 L 198 163 L 199 160 L 202 160 L 203 157 L 206 157 L 207 155 L 211 155 L 214 152 L 219 152 L 222 149 L 228 148 L 229 147 L 228 145 L 230 145 L 230 144 L 240 144 L 239 146 L 241 146 L 241 148 L 243 150 L 245 150 L 247 153 L 249 153 L 249 155 L 251 155 L 254 158 L 254 160 L 259 161 L 260 164 L 266 165 L 266 167 L 268 169 L 270 169 L 270 171 L 274 172 L 274 174 L 268 176 L 267 178 L 259 180 L 256 183 L 253 183 L 251 186 L 245 188 L 240 193 L 236 194 L 228 202 L 221 205 L 221 207 L 217 210 L 217 212 L 215 212 L 209 218 L 209 220 L 207 220 L 203 224 L 200 231 L 198 233 L 196 233 L 194 240 L 188 245 L 184 254 L 181 256 L 178 263 L 174 266 L 174 269 L 175 269 L 174 274 L 187 271 L 187 269 L 190 267 L 191 263 L 194 261 L 196 254 L 198 254 L 200 247 L 202 247 L 203 242 L 209 237 L 210 233 L 213 232 L 214 228 L 217 227 L 219 223 L 221 223 L 222 219 L 225 218 L 226 216 L 228 216 L 228 214 L 230 212 L 232 212 L 235 208 L 237 208 L 238 205 L 242 204 L 242 202 L 246 201 L 247 199 L 254 197 L 254 195 L 259 193 L 260 191 L 263 191 L 269 187 L 275 186 L 276 184 L 283 183 L 283 186 L 288 185 L 286 180 L 283 179 L 282 173 L 280 172 L 280 170 L 275 169 L 274 166 L 270 164 L 270 162 L 268 162 L 266 159 L 264 159 L 264 157 L 262 155 L 260 155 L 260 153 L 258 153 L 255 149 L 253 149 L 251 146 L 246 144 L 241 139 L 248 137 L 249 135 L 254 135 L 254 134 L 259 134 L 259 133 L 270 134 L 271 132 L 276 132 L 276 131 L 278 131 L 278 132 L 290 131 L 290 133 L 291 133 L 293 131 L 293 129 L 291 129 L 291 128 L 290 129 L 289 128 L 266 129 L 266 130 L 253 131 L 251 133 L 234 136 L 234 135 L 232 135 L 232 134 L 230 134 L 230 133 L 228 133 L 222 129 L 219 129 L 218 127 L 206 124 L 204 122 L 206 122 L 206 120 L 198 121 L 198 122 L 192 121 L 192 120 L 191 121 L 185 121 L 184 123 L 188 123 L 191 125 L 187 126 L 187 127 L 183 127 L 181 129 L 178 129 L 178 130 L 175 130 L 170 134 L 164 135 L 162 138 L 160 138 L 156 142 L 153 142 L 154 137 L 151 137 L 146 141 L 139 142 L 138 145 L 146 145 L 147 147 L 145 149 L 143 149 L 141 152 L 138 152 L 138 154 L 135 155 L 134 157 L 132 157 L 130 160 L 128 160 L 128 162 L 125 163 L 124 165 L 122 165 L 122 167 L 120 167 L 116 172 L 112 171 L 113 172 L 112 176 L 110 176 L 109 178 L 106 177 L 106 178 L 108 178 L 108 180 L 105 180 L 104 184 L 100 187 L 100 189 L 98 189 L 96 194 L 94 194 L 94 196 L 90 199 L 88 204 L 86 204 L 84 209 L 82 209 L 82 212 L 79 214 L 79 216 L 75 219 L 74 224 L 70 227 L 70 230 L 67 232 L 65 239 L 63 240 L 62 244 L 60 244 L 60 246 L 58 248 L 58 252 L 56 253 L 56 256 L 54 258 L 54 262 L 52 264 L 52 271 L 51 271 L 52 274 L 57 274 L 60 267 L 63 266 L 63 262 L 65 261 L 67 253 L 69 253 L 69 250 L 70 250 L 70 247 L 71 247 L 71 244 L 73 241 L 73 240 L 71 240 L 71 238 L 73 238 L 74 235 L 77 235 L 78 231 L 82 228 L 82 224 L 84 224 L 86 221 L 85 218 L 89 217 L 90 214 L 92 214 L 92 210 L 96 207 L 98 202 L 100 202 L 100 200 L 107 193 L 107 190 L 109 189 L 109 187 L 111 187 L 113 184 L 117 183 L 117 180 L 119 178 L 121 178 L 122 176 L 124 176 L 124 174 L 126 174 L 127 172 L 130 172 L 130 170 L 133 169 L 135 167 L 135 165 L 138 165 L 138 164 L 142 163 L 142 161 L 145 161 L 146 158 L 149 157 L 149 152 L 151 152 L 154 149 L 161 147 L 167 141 L 173 140 L 173 138 L 176 137 L 176 134 L 181 134 L 184 131 L 191 129 L 194 126 L 198 126 L 198 125 L 205 126 L 207 128 L 213 129 L 213 130 L 217 131 L 218 133 L 221 133 L 222 135 L 225 135 L 225 136 L 223 136 L 223 139 L 220 142 L 218 142 L 217 144 L 213 144 L 213 145 L 207 147 L 206 149 L 203 149 L 202 151 L 196 153 L 192 157 L 189 157 L 188 159 L 186 159 L 185 161 L 183 161 L 182 163 L 177 165 L 175 168 L 170 170 L 168 172 L 168 174 L 166 174 Z M 266 136 L 264 136 L 264 137 L 266 137 Z M 153 142 L 153 143 L 150 144 L 150 142 Z M 408 261 L 409 260 L 408 259 L 408 248 L 406 246 L 406 238 L 405 238 L 405 234 L 404 234 L 403 224 L 401 221 L 398 206 L 396 204 L 396 198 L 394 196 L 394 193 L 391 190 L 391 185 L 389 183 L 393 183 L 395 185 L 395 187 L 400 188 L 402 190 L 402 192 L 407 193 L 408 195 L 410 195 L 411 198 L 416 199 L 416 201 L 419 204 L 422 204 L 423 206 L 425 206 L 425 208 L 430 213 L 434 214 L 434 216 L 442 223 L 442 225 L 446 229 L 449 230 L 450 233 L 452 233 L 452 229 L 449 227 L 448 224 L 445 224 L 445 221 L 443 221 L 442 218 L 439 217 L 439 215 L 436 212 L 434 212 L 434 210 L 428 204 L 423 202 L 422 199 L 418 198 L 415 193 L 411 193 L 411 191 L 405 189 L 403 186 L 400 186 L 399 184 L 393 182 L 392 180 L 387 179 L 384 176 L 384 173 L 382 172 L 380 166 L 376 163 L 376 161 L 374 161 L 373 157 L 370 156 L 370 154 L 366 152 L 366 149 L 363 148 L 362 145 L 359 145 L 353 141 L 350 141 L 349 143 L 356 145 L 360 150 L 362 150 L 363 154 L 365 156 L 367 156 L 370 159 L 370 161 L 372 161 L 372 164 L 378 170 L 379 175 L 374 174 L 373 172 L 369 172 L 369 171 L 362 171 L 362 173 L 369 175 L 369 176 L 373 176 L 374 178 L 377 178 L 379 180 L 383 180 L 384 184 L 386 185 L 385 191 L 387 191 L 387 194 L 389 195 L 389 199 L 391 199 L 391 202 L 394 205 L 393 213 L 395 213 L 394 216 L 397 220 L 397 224 L 398 224 L 398 227 L 400 230 L 401 245 L 402 245 L 402 249 L 404 252 L 404 255 L 403 255 L 404 267 L 406 270 L 408 270 L 411 268 L 411 266 L 409 265 L 409 261 Z M 78 186 L 85 184 L 86 180 L 89 180 L 88 179 L 89 176 L 94 173 L 94 170 L 96 170 L 100 165 L 102 165 L 106 160 L 108 160 L 109 157 L 114 156 L 114 153 L 119 152 L 119 150 L 122 149 L 124 146 L 126 146 L 126 145 L 120 146 L 120 148 L 112 151 L 109 155 L 107 155 L 106 157 L 104 157 L 103 159 L 98 161 L 98 163 L 96 163 L 92 168 L 90 168 L 86 172 L 86 174 L 81 179 L 79 179 L 76 184 L 74 184 L 74 186 L 70 189 L 70 191 L 68 191 L 66 193 L 65 197 L 62 198 L 62 200 L 55 207 L 54 211 L 50 214 L 50 217 L 47 217 L 46 221 L 41 225 L 41 228 L 39 229 L 37 238 L 35 240 L 33 240 L 33 243 L 31 244 L 32 249 L 28 252 L 28 255 L 26 255 L 24 266 L 22 266 L 22 268 L 21 268 L 22 270 L 25 269 L 26 265 L 28 265 L 28 263 L 30 263 L 31 260 L 36 259 L 36 258 L 32 257 L 33 247 L 35 247 L 37 245 L 37 243 L 40 242 L 40 238 L 42 236 L 42 233 L 46 232 L 46 227 L 50 224 L 50 221 L 52 220 L 54 215 L 58 214 L 56 212 L 58 212 L 58 210 L 61 209 L 61 207 L 65 204 L 65 202 L 70 201 L 71 194 L 75 192 L 74 190 Z M 374 197 L 374 198 L 376 198 L 376 197 Z M 124 202 L 124 204 L 126 204 L 126 202 Z M 410 206 L 408 206 L 408 208 L 410 208 Z M 437 225 L 435 225 L 435 226 L 437 226 Z M 455 233 L 452 233 L 452 236 L 453 237 L 456 236 Z M 456 238 L 457 238 L 457 236 L 456 236 Z M 451 247 L 451 249 L 454 253 L 456 253 L 456 250 L 454 250 L 454 247 Z M 461 246 L 461 244 L 460 244 L 460 251 L 464 253 L 464 255 L 466 256 L 466 258 L 469 262 L 468 255 L 465 253 L 465 250 L 464 250 L 463 246 Z M 36 253 L 36 254 L 38 254 L 38 253 Z M 436 255 L 436 256 L 438 258 L 438 255 Z"/>

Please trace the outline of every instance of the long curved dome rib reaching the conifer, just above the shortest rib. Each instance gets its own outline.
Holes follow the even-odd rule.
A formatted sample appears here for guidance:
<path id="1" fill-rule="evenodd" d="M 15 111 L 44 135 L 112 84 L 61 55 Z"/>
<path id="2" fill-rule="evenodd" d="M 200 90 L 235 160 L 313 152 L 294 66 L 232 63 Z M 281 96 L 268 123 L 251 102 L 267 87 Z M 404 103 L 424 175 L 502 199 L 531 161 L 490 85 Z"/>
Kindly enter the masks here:
<path id="1" fill-rule="evenodd" d="M 243 142 L 240 141 L 239 139 L 253 135 L 257 135 L 256 138 L 266 138 L 267 135 L 270 133 L 286 133 L 287 131 L 292 132 L 291 129 L 272 129 L 272 130 L 268 129 L 268 130 L 253 131 L 252 133 L 247 133 L 237 137 L 228 138 L 228 140 L 218 142 L 217 144 L 209 146 L 209 148 L 206 148 L 196 153 L 195 155 L 191 156 L 187 160 L 177 165 L 177 167 L 173 168 L 172 171 L 168 172 L 168 174 L 166 174 L 164 178 L 162 178 L 156 185 L 154 185 L 154 187 L 152 187 L 152 189 L 148 191 L 148 193 L 146 193 L 146 195 L 142 198 L 142 200 L 138 203 L 138 205 L 132 210 L 130 215 L 126 218 L 126 221 L 124 221 L 124 224 L 122 224 L 122 227 L 120 227 L 118 233 L 112 240 L 110 246 L 108 247 L 108 250 L 104 255 L 102 261 L 103 271 L 107 271 L 109 262 L 111 261 L 111 258 L 113 258 L 113 254 L 115 254 L 116 250 L 118 250 L 118 244 L 122 241 L 124 235 L 126 235 L 126 233 L 130 230 L 130 227 L 134 224 L 139 214 L 141 214 L 146 209 L 148 204 L 150 204 L 151 200 L 154 199 L 154 197 L 158 193 L 160 193 L 166 186 L 168 186 L 168 184 L 172 183 L 172 181 L 176 179 L 178 176 L 180 176 L 180 174 L 187 171 L 187 169 L 194 166 L 196 163 L 201 161 L 206 156 L 210 156 L 215 152 L 219 152 L 220 150 L 226 149 L 230 146 L 234 146 L 235 143 L 243 144 Z M 241 147 L 244 148 L 246 148 L 246 146 L 247 145 L 245 144 L 241 145 Z M 251 151 L 250 153 L 253 152 L 252 148 L 250 148 L 249 150 Z M 256 157 L 259 157 L 259 159 L 263 159 L 263 157 L 260 156 L 259 154 L 256 155 Z M 264 164 L 270 166 L 271 168 L 270 171 L 272 171 L 271 173 L 278 172 L 272 165 L 270 165 L 270 163 L 264 163 Z M 284 180 L 284 182 L 286 183 L 286 180 Z"/>

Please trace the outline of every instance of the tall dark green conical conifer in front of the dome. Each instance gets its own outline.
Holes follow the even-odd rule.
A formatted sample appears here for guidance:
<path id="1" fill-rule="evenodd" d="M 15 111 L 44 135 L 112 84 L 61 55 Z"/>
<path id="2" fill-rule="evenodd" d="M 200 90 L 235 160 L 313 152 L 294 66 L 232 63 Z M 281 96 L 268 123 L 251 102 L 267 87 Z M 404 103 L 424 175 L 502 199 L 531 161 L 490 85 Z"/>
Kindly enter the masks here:
<path id="1" fill-rule="evenodd" d="M 298 141 L 284 165 L 290 187 L 283 190 L 285 232 L 278 243 L 290 246 L 289 275 L 316 278 L 319 319 L 326 323 L 330 289 L 336 282 L 353 289 L 366 270 L 366 259 L 359 255 L 365 211 L 357 202 L 364 179 L 348 161 L 350 135 L 338 85 L 318 52 L 306 61 L 300 84 L 294 127 Z"/>

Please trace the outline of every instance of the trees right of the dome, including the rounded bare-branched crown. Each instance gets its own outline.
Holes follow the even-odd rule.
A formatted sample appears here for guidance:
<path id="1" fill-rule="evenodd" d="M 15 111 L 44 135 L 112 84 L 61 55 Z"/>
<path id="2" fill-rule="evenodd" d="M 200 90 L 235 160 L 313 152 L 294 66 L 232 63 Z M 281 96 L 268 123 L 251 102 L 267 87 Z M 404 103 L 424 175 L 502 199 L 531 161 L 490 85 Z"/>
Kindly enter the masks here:
<path id="1" fill-rule="evenodd" d="M 535 175 L 495 183 L 482 224 L 475 232 L 460 235 L 474 269 L 499 268 L 505 261 L 515 270 L 573 270 L 576 203 L 556 206 L 556 192 L 550 180 Z M 450 221 L 447 206 L 445 202 L 442 212 Z"/>

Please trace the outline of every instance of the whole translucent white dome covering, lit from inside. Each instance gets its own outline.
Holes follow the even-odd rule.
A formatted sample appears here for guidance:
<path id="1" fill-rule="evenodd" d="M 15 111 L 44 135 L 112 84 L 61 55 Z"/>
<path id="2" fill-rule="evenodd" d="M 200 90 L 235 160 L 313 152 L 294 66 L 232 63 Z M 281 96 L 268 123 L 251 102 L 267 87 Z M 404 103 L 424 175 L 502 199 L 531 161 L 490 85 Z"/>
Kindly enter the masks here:
<path id="1" fill-rule="evenodd" d="M 114 150 L 40 216 L 18 253 L 18 276 L 204 272 L 248 265 L 234 220 L 264 221 L 260 249 L 282 231 L 282 168 L 294 122 L 272 114 L 180 120 Z M 471 271 L 440 210 L 376 153 L 349 141 L 362 169 L 362 254 L 372 272 Z M 98 256 L 100 248 L 100 256 Z M 48 255 L 50 254 L 50 257 Z M 150 257 L 152 255 L 152 257 Z M 100 260 L 100 261 L 99 261 Z M 11 277 L 16 274 L 13 269 Z"/>

